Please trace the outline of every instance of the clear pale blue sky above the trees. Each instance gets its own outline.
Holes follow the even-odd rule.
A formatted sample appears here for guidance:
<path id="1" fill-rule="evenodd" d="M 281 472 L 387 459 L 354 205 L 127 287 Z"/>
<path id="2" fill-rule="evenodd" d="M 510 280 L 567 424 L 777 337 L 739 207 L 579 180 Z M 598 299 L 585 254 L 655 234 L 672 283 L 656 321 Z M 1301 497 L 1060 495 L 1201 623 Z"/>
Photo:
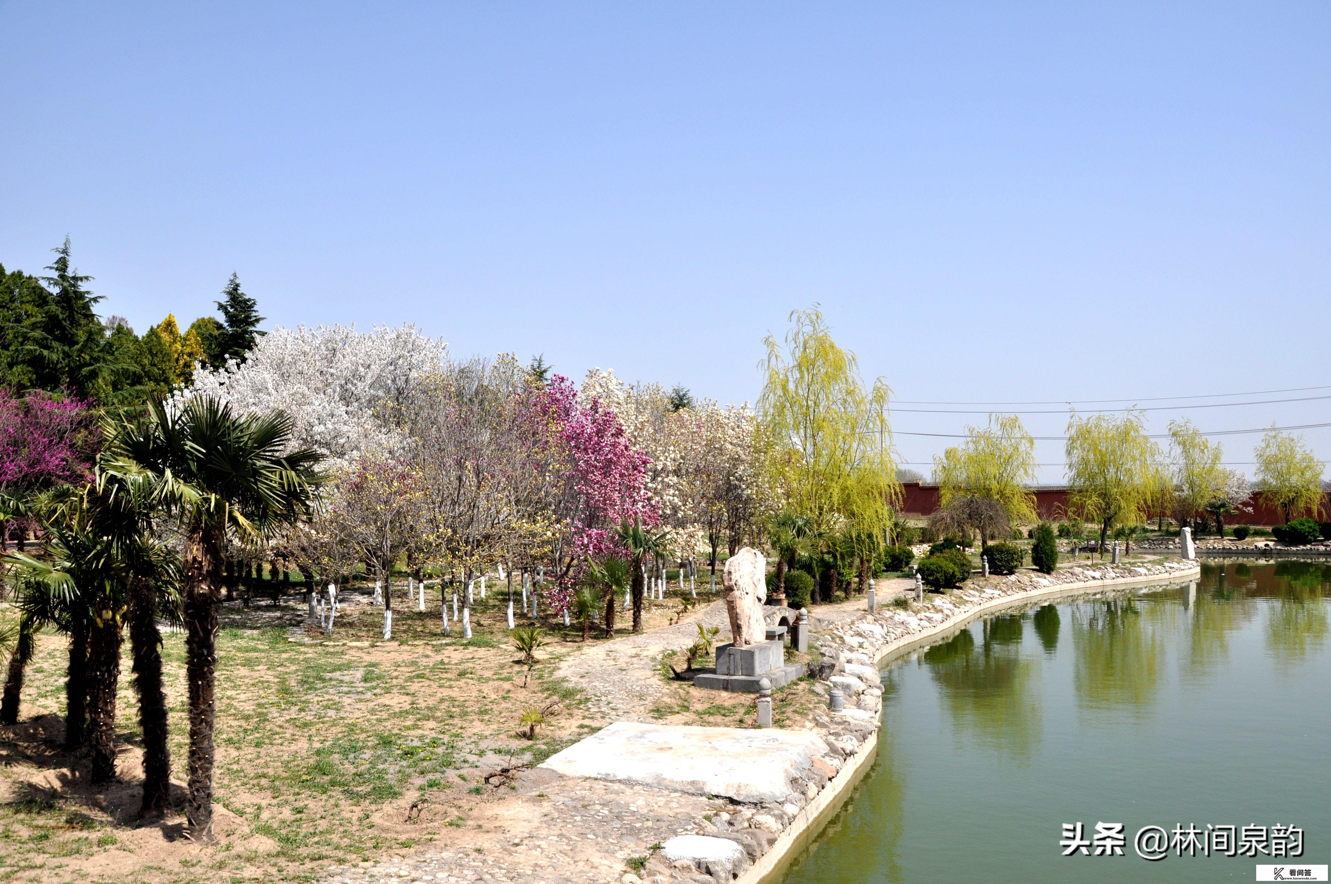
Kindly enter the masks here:
<path id="1" fill-rule="evenodd" d="M 269 325 L 727 402 L 813 302 L 900 399 L 1331 385 L 1324 1 L 0 3 L 0 262 L 69 234 L 140 332 L 236 270 Z M 984 419 L 905 407 L 942 406 L 894 411 L 908 462 Z"/>

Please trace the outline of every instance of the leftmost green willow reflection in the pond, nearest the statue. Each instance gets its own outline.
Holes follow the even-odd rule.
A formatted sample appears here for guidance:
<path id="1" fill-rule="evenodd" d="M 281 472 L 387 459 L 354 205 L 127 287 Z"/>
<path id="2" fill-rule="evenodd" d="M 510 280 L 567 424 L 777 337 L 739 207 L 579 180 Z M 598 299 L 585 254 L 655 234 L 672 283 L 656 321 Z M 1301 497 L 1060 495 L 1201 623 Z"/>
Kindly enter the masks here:
<path id="1" fill-rule="evenodd" d="M 1038 746 L 1041 706 L 1034 699 L 1033 676 L 1038 659 L 1021 652 L 1022 618 L 997 616 L 957 632 L 922 656 L 941 688 L 958 734 L 968 734 L 990 750 L 1026 759 Z"/>

